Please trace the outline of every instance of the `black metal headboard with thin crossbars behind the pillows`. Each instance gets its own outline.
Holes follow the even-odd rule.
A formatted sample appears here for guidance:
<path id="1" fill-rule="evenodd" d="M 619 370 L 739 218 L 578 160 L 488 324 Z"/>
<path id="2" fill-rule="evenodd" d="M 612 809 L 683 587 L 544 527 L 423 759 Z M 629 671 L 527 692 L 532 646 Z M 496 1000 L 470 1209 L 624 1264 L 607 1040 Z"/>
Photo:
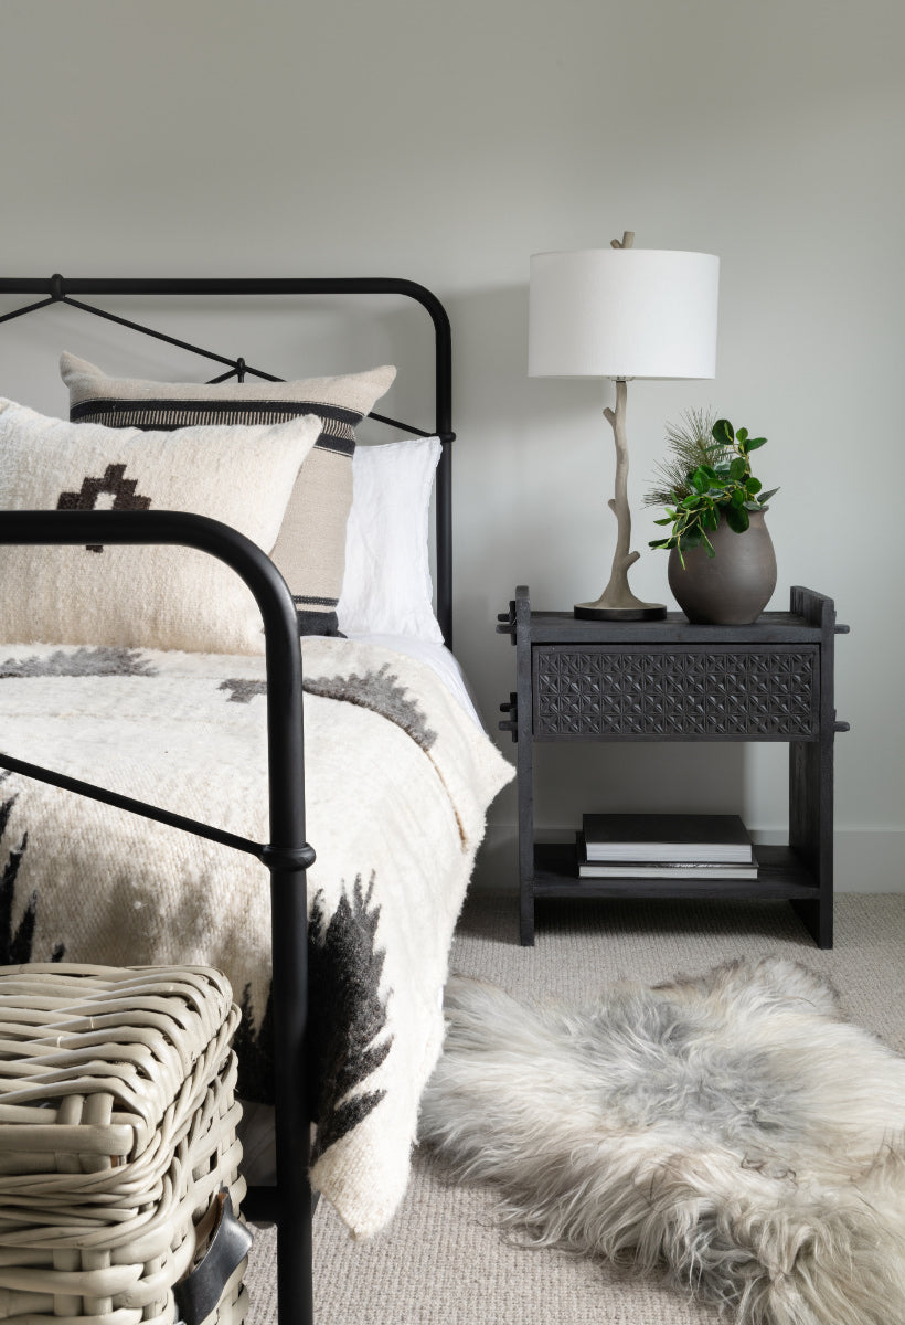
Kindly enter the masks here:
<path id="1" fill-rule="evenodd" d="M 0 277 L 0 294 L 38 294 L 42 298 L 21 307 L 0 314 L 0 322 L 11 322 L 13 318 L 24 317 L 38 309 L 49 307 L 54 303 L 68 303 L 74 309 L 81 309 L 95 317 L 115 322 L 119 326 L 139 331 L 142 335 L 154 337 L 167 344 L 178 346 L 191 354 L 201 355 L 215 363 L 225 364 L 228 371 L 211 379 L 212 382 L 225 382 L 237 378 L 240 382 L 246 374 L 253 374 L 268 382 L 281 379 L 262 368 L 252 367 L 244 359 L 235 359 L 204 350 L 200 346 L 189 344 L 176 337 L 171 337 L 154 327 L 143 326 L 130 318 L 110 313 L 106 309 L 85 303 L 76 295 L 302 295 L 302 294 L 399 294 L 415 299 L 427 309 L 433 322 L 435 335 L 435 435 L 441 441 L 440 464 L 436 478 L 436 592 L 437 592 L 437 619 L 443 637 L 452 648 L 452 443 L 456 433 L 452 431 L 452 338 L 449 331 L 449 318 L 440 299 L 425 286 L 416 281 L 395 280 L 392 277 L 327 277 L 313 278 L 64 278 L 60 274 L 50 277 Z M 372 413 L 370 416 L 378 423 L 391 428 L 399 428 L 415 436 L 427 437 L 431 433 L 423 428 L 415 428 L 388 419 L 386 415 Z"/>

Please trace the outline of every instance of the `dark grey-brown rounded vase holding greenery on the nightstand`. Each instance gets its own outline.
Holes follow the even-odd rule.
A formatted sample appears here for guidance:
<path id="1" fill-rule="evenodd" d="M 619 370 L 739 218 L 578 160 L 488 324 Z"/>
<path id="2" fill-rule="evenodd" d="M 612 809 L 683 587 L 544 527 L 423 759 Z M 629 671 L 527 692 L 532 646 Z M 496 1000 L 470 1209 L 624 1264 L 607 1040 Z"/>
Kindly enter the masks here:
<path id="1" fill-rule="evenodd" d="M 763 511 L 750 515 L 743 534 L 735 534 L 725 519 L 708 533 L 717 554 L 713 558 L 704 547 L 693 547 L 682 554 L 682 570 L 678 553 L 669 553 L 669 588 L 696 625 L 750 625 L 770 602 L 776 587 L 776 554 Z"/>

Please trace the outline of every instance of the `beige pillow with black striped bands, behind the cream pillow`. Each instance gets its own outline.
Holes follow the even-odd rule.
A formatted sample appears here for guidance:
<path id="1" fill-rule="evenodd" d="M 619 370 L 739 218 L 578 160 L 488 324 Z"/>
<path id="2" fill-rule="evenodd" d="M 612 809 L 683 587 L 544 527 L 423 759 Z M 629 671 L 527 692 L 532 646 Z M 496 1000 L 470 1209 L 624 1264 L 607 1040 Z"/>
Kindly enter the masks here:
<path id="1" fill-rule="evenodd" d="M 299 382 L 143 382 L 109 378 L 64 354 L 74 423 L 109 428 L 183 428 L 197 424 L 277 423 L 302 413 L 322 421 L 321 436 L 298 476 L 273 559 L 295 599 L 302 635 L 335 635 L 352 505 L 355 424 L 390 390 L 396 370 L 372 368 Z"/>

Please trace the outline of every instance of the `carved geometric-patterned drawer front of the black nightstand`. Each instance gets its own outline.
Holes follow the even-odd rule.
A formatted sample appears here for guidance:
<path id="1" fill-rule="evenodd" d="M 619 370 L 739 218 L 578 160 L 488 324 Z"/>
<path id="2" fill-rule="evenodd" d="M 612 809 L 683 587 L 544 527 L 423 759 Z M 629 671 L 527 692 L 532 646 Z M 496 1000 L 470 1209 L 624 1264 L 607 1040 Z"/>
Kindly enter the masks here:
<path id="1" fill-rule="evenodd" d="M 535 737 L 816 739 L 819 648 L 534 645 Z"/>

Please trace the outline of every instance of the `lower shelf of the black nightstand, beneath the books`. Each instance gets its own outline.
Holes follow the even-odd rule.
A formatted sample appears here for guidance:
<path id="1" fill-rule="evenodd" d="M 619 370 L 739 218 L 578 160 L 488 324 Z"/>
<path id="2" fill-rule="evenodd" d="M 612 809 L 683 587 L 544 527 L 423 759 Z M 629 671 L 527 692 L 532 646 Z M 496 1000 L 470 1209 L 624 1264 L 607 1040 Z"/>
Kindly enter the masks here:
<path id="1" fill-rule="evenodd" d="M 535 843 L 534 896 L 819 898 L 814 876 L 791 847 L 757 847 L 757 878 L 582 878 L 572 844 Z"/>

